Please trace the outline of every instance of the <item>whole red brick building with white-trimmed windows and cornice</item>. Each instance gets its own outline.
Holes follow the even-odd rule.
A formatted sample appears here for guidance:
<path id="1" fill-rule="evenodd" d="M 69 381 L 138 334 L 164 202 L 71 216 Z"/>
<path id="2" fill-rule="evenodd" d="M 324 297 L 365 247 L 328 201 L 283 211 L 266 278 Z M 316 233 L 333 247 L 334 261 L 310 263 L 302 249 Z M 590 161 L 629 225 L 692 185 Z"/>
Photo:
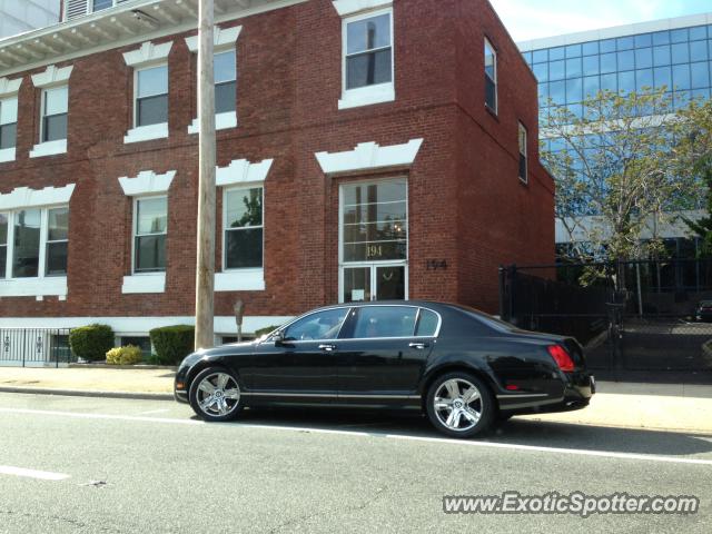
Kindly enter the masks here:
<path id="1" fill-rule="evenodd" d="M 500 264 L 553 260 L 536 80 L 486 0 L 215 4 L 217 335 L 238 298 L 247 333 L 352 299 L 494 312 Z M 69 0 L 0 40 L 0 327 L 192 322 L 196 23 Z"/>

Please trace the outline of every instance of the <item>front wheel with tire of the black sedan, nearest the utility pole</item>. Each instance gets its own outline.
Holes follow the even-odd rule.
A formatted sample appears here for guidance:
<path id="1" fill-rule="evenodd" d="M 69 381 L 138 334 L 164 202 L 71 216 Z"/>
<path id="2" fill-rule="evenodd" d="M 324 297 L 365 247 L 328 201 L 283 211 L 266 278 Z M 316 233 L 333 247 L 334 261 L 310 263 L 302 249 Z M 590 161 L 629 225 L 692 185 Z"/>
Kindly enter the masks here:
<path id="1" fill-rule="evenodd" d="M 241 389 L 235 373 L 222 367 L 208 367 L 190 384 L 190 406 L 204 421 L 231 421 L 243 409 Z"/>

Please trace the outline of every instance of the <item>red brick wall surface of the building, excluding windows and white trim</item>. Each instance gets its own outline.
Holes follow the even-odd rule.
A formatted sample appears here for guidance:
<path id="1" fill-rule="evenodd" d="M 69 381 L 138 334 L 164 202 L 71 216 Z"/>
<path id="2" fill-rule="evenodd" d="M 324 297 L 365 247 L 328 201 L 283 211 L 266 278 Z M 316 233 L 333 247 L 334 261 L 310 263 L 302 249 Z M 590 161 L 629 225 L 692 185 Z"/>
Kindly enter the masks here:
<path id="1" fill-rule="evenodd" d="M 342 111 L 342 21 L 330 1 L 239 23 L 239 126 L 218 132 L 217 155 L 219 166 L 275 160 L 265 182 L 266 290 L 218 293 L 216 315 L 231 315 L 237 298 L 248 315 L 291 315 L 337 300 L 338 184 L 355 177 L 325 177 L 314 154 L 365 141 L 388 146 L 424 138 L 411 169 L 386 174 L 408 177 L 411 297 L 493 309 L 498 264 L 553 259 L 553 186 L 537 162 L 535 81 L 484 0 L 395 0 L 396 101 Z M 497 118 L 484 110 L 483 31 L 500 50 Z M 169 139 L 122 142 L 132 122 L 134 77 L 121 52 L 137 43 L 72 62 L 69 152 L 29 159 L 39 136 L 40 91 L 32 72 L 24 73 L 18 159 L 0 164 L 0 192 L 77 184 L 69 295 L 66 301 L 2 298 L 0 315 L 192 314 L 197 136 L 188 136 L 187 127 L 195 116 L 196 72 L 184 37 L 157 40 L 174 41 Z M 517 117 L 530 131 L 528 186 L 516 177 Z M 131 271 L 131 199 L 118 177 L 147 169 L 177 171 L 168 199 L 166 293 L 122 295 L 122 277 Z M 220 198 L 218 191 L 218 208 Z M 217 245 L 219 269 L 219 228 Z M 427 270 L 428 259 L 446 259 L 448 268 Z"/>

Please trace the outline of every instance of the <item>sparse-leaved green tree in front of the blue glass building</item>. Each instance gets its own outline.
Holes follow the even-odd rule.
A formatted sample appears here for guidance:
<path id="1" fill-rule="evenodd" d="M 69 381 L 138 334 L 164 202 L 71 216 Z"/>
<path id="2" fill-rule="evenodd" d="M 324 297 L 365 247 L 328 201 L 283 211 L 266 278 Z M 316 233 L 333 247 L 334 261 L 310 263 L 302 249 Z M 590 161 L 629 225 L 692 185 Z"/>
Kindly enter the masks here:
<path id="1" fill-rule="evenodd" d="M 695 207 L 700 180 L 681 172 L 686 122 L 665 88 L 599 92 L 582 116 L 553 102 L 542 161 L 556 181 L 570 257 L 624 261 L 663 253 L 659 229 Z"/>

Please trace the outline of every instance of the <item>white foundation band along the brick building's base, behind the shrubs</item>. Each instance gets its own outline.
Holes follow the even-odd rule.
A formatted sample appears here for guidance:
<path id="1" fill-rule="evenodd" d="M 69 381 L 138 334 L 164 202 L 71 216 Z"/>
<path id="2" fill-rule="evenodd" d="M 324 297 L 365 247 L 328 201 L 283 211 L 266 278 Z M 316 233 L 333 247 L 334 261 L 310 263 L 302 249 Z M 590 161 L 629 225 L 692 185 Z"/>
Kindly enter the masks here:
<path id="1" fill-rule="evenodd" d="M 250 334 L 268 326 L 279 326 L 293 316 L 250 315 L 243 319 L 243 333 Z M 172 325 L 195 325 L 195 316 L 167 317 L 0 317 L 0 328 L 76 328 L 92 323 L 109 325 L 115 334 L 144 334 L 152 328 Z M 235 335 L 234 316 L 216 316 L 214 329 L 218 335 Z"/>

